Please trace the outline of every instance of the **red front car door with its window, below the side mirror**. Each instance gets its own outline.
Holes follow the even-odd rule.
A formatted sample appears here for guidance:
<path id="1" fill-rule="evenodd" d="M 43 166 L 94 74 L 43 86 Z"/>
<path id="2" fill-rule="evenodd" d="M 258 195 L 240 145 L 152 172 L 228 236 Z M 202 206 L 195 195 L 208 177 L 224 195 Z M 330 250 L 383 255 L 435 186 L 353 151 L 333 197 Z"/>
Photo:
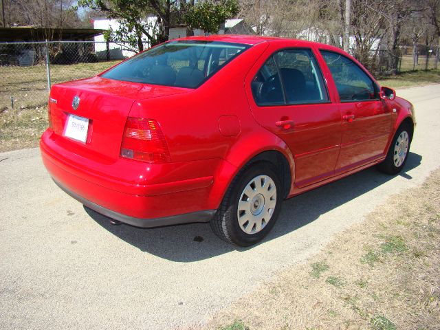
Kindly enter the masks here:
<path id="1" fill-rule="evenodd" d="M 394 116 L 364 69 L 338 52 L 320 53 L 339 94 L 342 141 L 335 172 L 344 172 L 384 156 Z"/>

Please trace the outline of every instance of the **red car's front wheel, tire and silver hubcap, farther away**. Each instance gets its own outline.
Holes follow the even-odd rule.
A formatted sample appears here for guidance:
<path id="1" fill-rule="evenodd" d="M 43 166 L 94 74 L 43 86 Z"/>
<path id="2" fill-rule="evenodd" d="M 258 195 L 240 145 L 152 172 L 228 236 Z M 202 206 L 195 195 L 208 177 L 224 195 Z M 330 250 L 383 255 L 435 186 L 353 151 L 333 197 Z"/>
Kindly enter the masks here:
<path id="1" fill-rule="evenodd" d="M 402 124 L 397 129 L 393 141 L 390 144 L 384 162 L 377 165 L 377 168 L 386 174 L 395 175 L 404 168 L 412 140 L 411 129 L 408 124 Z"/>

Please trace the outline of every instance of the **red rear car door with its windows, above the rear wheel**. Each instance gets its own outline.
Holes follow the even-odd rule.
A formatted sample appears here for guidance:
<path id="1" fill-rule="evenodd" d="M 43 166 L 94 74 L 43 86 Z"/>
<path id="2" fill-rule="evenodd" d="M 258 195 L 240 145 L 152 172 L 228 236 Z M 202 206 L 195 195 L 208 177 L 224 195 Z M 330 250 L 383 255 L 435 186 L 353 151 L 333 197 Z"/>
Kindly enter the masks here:
<path id="1" fill-rule="evenodd" d="M 256 121 L 281 137 L 294 155 L 296 186 L 333 175 L 340 151 L 340 112 L 329 98 L 313 50 L 269 48 L 246 86 Z"/>

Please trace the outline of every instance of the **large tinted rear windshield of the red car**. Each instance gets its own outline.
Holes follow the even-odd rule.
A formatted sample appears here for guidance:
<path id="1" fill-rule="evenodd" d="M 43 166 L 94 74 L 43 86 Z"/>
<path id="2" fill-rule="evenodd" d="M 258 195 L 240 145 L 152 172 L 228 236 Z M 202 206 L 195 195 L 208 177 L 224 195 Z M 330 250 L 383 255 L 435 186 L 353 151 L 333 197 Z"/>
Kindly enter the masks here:
<path id="1" fill-rule="evenodd" d="M 248 47 L 218 41 L 171 41 L 133 56 L 102 77 L 197 88 Z"/>

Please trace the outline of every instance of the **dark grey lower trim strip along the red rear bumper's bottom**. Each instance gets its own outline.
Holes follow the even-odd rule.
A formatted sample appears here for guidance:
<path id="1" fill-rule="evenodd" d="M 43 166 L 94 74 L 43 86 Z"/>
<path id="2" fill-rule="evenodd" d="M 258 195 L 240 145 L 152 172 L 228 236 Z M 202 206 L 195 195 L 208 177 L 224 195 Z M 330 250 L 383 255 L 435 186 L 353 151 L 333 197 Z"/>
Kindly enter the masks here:
<path id="1" fill-rule="evenodd" d="M 64 192 L 66 192 L 67 195 L 74 197 L 74 199 L 80 201 L 80 203 L 83 203 L 83 205 L 87 206 L 87 208 L 91 208 L 91 210 L 94 210 L 111 219 L 115 219 L 123 223 L 127 223 L 129 225 L 134 225 L 135 227 L 153 228 L 153 227 L 160 227 L 163 225 L 179 225 L 183 223 L 208 222 L 210 221 L 210 219 L 212 219 L 215 213 L 215 210 L 204 210 L 204 211 L 196 211 L 186 214 L 179 214 L 170 217 L 155 218 L 155 219 L 140 219 L 135 217 L 129 217 L 128 215 L 114 212 L 112 210 L 109 210 L 108 208 L 103 208 L 102 206 L 99 206 L 98 204 L 92 201 L 88 201 L 87 199 L 81 197 L 80 195 L 77 195 L 75 192 L 68 190 L 67 188 L 65 188 L 65 186 L 63 186 L 55 179 L 54 182 L 58 187 L 64 190 Z"/>

